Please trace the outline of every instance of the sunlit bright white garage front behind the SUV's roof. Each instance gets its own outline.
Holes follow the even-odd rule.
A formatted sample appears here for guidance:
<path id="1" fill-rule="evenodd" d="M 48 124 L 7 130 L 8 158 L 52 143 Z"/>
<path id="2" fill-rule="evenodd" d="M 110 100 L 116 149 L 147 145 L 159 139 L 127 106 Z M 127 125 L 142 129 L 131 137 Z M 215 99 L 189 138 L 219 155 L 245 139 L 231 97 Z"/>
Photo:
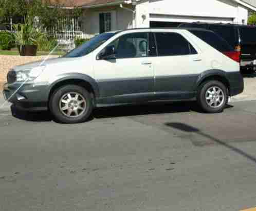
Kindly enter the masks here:
<path id="1" fill-rule="evenodd" d="M 142 22 L 141 15 L 147 19 Z M 247 23 L 248 10 L 231 0 L 148 0 L 137 5 L 137 27 L 160 22 Z"/>

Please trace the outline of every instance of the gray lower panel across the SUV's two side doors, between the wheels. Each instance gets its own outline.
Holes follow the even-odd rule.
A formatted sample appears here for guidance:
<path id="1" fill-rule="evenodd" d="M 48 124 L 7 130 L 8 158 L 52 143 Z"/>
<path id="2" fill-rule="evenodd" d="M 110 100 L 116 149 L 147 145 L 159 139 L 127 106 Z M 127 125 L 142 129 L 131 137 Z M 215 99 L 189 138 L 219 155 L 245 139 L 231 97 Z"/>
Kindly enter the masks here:
<path id="1" fill-rule="evenodd" d="M 97 107 L 152 101 L 190 100 L 198 74 L 98 81 Z"/>

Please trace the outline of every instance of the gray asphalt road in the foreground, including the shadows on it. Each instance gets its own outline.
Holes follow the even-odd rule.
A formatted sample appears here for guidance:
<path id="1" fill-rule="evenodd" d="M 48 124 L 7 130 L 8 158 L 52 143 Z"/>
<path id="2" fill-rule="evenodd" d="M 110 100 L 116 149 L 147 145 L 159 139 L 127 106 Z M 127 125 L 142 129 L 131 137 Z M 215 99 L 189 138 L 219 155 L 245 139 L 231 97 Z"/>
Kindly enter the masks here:
<path id="1" fill-rule="evenodd" d="M 0 210 L 241 210 L 256 206 L 256 101 L 98 109 L 65 125 L 0 111 Z"/>

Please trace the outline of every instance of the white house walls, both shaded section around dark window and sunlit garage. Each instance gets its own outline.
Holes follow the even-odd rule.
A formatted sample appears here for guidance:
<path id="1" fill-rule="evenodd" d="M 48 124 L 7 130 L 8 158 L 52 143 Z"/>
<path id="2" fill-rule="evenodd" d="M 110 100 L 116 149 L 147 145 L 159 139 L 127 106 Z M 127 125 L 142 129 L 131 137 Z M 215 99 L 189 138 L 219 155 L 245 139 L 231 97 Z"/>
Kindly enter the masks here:
<path id="1" fill-rule="evenodd" d="M 127 7 L 127 5 L 123 5 Z M 133 28 L 133 13 L 119 6 L 100 8 L 112 12 L 112 30 Z M 143 19 L 142 17 L 145 17 Z M 247 24 L 248 10 L 231 0 L 141 0 L 136 6 L 136 27 L 150 27 L 150 21 L 160 22 L 222 22 Z M 99 12 L 87 9 L 83 15 L 86 36 L 99 33 Z"/>

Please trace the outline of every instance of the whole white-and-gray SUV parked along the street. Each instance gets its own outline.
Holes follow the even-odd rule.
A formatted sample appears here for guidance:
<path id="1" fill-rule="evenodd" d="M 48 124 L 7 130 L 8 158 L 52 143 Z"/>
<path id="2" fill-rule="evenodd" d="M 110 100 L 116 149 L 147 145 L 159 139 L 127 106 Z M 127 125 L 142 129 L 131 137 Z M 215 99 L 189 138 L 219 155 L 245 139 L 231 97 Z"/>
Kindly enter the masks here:
<path id="1" fill-rule="evenodd" d="M 208 30 L 107 32 L 43 65 L 14 67 L 4 96 L 21 109 L 49 109 L 64 123 L 85 121 L 95 107 L 153 101 L 197 100 L 205 112 L 217 113 L 243 92 L 238 60 Z"/>

